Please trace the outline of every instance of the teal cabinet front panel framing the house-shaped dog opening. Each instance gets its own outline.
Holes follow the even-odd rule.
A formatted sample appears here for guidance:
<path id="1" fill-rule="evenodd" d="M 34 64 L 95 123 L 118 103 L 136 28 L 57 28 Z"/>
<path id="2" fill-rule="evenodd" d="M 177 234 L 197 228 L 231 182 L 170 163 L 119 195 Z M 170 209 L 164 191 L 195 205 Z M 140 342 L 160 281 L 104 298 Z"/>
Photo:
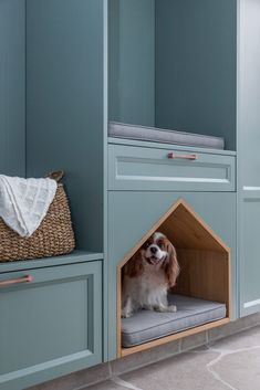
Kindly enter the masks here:
<path id="1" fill-rule="evenodd" d="M 164 213 L 184 199 L 231 249 L 231 317 L 237 318 L 237 196 L 233 192 L 108 193 L 108 359 L 116 358 L 116 267 Z M 106 302 L 105 302 L 106 305 Z"/>

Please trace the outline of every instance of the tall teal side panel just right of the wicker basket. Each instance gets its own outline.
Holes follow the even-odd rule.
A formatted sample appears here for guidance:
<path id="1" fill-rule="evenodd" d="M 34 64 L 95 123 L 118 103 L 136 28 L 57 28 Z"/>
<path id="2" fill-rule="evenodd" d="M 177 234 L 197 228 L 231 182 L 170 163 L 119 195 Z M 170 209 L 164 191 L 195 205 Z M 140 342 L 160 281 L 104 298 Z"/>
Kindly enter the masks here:
<path id="1" fill-rule="evenodd" d="M 63 169 L 77 249 L 103 251 L 103 0 L 27 2 L 28 176 Z"/>

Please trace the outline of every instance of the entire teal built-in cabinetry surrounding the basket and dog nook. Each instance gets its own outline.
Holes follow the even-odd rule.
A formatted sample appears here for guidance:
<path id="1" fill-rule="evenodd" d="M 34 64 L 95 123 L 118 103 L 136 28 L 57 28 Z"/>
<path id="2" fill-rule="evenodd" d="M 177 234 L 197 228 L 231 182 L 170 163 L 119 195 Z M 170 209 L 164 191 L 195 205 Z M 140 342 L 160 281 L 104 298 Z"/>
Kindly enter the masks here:
<path id="1" fill-rule="evenodd" d="M 260 310 L 259 40 L 259 0 L 0 0 L 0 173 L 64 169 L 77 249 L 105 252 L 1 267 L 33 278 L 0 287 L 1 390 L 116 357 L 116 265 L 178 198 L 231 247 L 232 318 Z M 107 146 L 108 108 L 233 151 Z"/>

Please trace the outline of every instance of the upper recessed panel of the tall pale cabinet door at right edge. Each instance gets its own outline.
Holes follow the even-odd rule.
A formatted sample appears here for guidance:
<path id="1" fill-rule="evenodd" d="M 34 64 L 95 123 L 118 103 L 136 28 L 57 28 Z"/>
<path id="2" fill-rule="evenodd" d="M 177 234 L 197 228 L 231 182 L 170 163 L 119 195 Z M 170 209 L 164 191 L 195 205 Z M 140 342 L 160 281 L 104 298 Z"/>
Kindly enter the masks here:
<path id="1" fill-rule="evenodd" d="M 240 185 L 260 187 L 260 1 L 240 2 Z M 258 188 L 259 189 L 259 188 Z"/>

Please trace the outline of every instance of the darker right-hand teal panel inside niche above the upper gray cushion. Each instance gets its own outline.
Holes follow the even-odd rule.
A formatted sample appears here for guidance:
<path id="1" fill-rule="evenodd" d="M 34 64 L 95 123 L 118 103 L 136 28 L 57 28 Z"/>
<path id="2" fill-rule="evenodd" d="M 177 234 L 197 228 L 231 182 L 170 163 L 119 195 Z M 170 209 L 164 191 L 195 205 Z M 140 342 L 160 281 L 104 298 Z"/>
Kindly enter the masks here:
<path id="1" fill-rule="evenodd" d="M 156 126 L 236 150 L 236 0 L 156 1 Z"/>

